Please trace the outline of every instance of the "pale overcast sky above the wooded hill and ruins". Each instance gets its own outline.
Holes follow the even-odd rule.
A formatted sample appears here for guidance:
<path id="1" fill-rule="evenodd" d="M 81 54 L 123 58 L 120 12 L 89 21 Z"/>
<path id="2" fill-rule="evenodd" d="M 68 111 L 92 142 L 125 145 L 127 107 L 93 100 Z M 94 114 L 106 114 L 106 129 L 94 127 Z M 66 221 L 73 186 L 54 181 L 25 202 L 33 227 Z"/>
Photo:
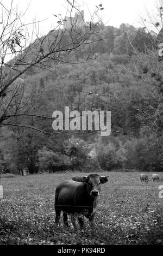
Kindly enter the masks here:
<path id="1" fill-rule="evenodd" d="M 67 1 L 66 0 L 13 0 L 14 5 L 18 5 L 18 9 L 22 12 L 28 10 L 25 15 L 26 22 L 31 22 L 33 19 L 44 20 L 40 23 L 40 29 L 43 34 L 46 34 L 55 24 L 56 17 L 53 14 L 66 15 Z M 70 0 L 72 2 L 72 0 Z M 103 22 L 106 25 L 119 27 L 121 23 L 129 23 L 135 27 L 142 26 L 140 16 L 145 16 L 146 8 L 149 13 L 154 9 L 155 0 L 76 0 L 80 10 L 84 9 L 86 20 L 89 19 L 89 12 L 93 13 L 96 5 L 103 4 L 104 10 L 100 12 L 103 17 Z M 9 5 L 11 0 L 3 0 L 5 6 Z M 1 6 L 0 6 L 1 8 Z M 68 16 L 68 15 L 67 15 Z"/>

